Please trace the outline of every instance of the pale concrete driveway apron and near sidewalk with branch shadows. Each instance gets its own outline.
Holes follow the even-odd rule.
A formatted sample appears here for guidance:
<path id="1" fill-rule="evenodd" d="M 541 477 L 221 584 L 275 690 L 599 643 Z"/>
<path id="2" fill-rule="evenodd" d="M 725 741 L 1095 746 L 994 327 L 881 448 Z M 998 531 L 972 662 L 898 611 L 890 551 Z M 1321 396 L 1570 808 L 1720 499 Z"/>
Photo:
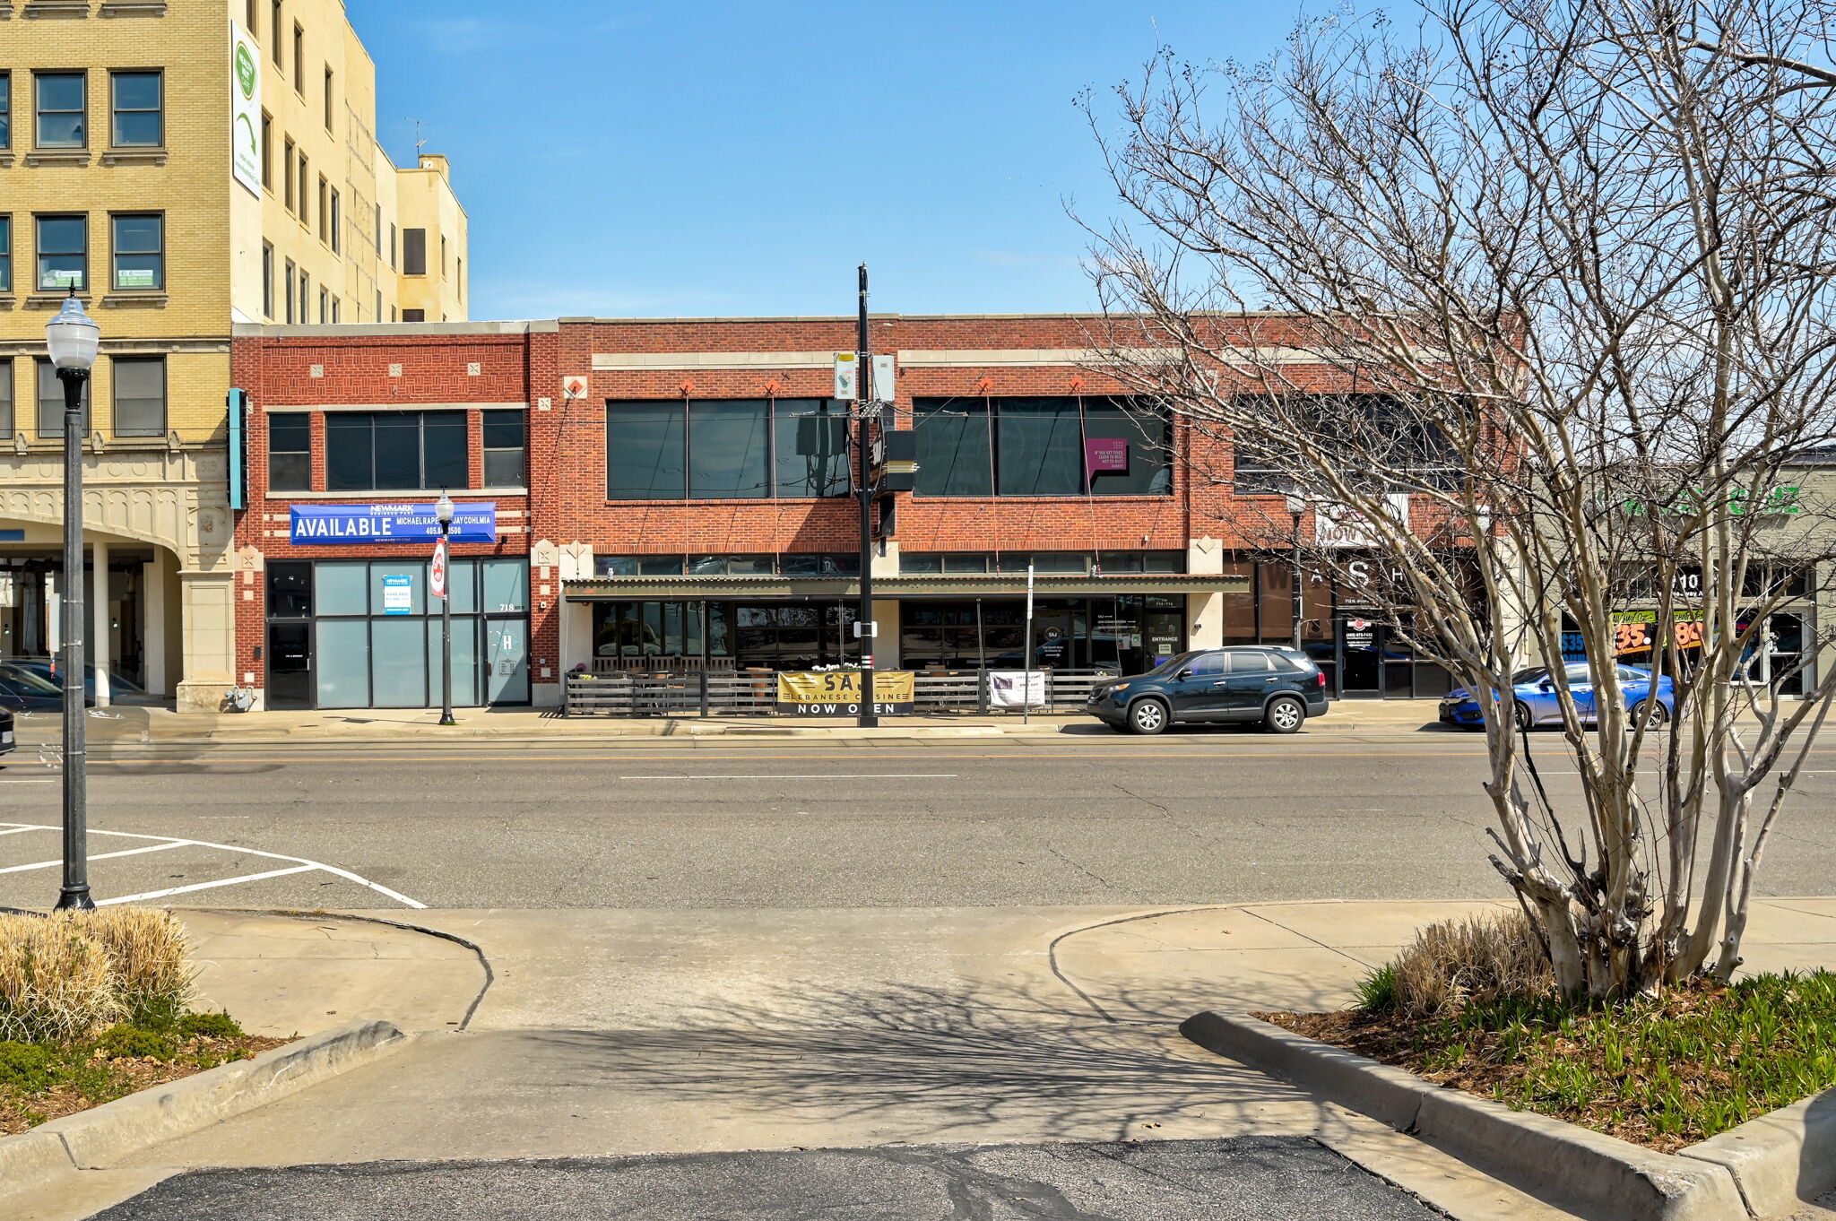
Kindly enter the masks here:
<path id="1" fill-rule="evenodd" d="M 424 1034 L 86 1171 L 22 1217 L 86 1215 L 70 1201 L 94 1210 L 200 1166 L 1300 1135 L 1463 1221 L 1553 1221 L 1175 1030 L 1203 1008 L 1342 1006 L 1421 924 L 1504 907 L 402 913 L 488 966 L 465 1032 L 455 1010 L 481 968 L 452 942 L 415 947 L 422 935 L 323 913 L 182 913 L 213 964 L 209 997 L 244 1021 L 305 1028 L 369 1004 Z M 1748 960 L 1836 968 L 1836 898 L 1759 902 Z"/>

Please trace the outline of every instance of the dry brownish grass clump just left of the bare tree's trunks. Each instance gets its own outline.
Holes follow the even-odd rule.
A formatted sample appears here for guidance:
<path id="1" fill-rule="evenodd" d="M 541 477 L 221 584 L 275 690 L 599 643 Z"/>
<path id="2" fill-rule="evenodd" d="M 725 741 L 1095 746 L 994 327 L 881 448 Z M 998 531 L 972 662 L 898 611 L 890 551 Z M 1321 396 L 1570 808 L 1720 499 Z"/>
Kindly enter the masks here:
<path id="1" fill-rule="evenodd" d="M 1430 924 L 1392 969 L 1390 1008 L 1403 1017 L 1438 1017 L 1469 1003 L 1533 997 L 1555 986 L 1550 958 L 1520 913 Z M 1366 988 L 1359 999 L 1366 999 Z"/>

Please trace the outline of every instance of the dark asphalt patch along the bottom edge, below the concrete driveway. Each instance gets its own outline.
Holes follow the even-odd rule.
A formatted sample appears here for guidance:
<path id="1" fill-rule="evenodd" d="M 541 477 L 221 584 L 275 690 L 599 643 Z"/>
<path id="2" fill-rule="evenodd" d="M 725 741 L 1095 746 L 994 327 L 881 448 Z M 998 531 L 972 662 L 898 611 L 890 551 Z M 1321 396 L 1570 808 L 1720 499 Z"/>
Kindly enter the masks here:
<path id="1" fill-rule="evenodd" d="M 97 1221 L 1434 1221 L 1300 1137 L 371 1162 L 167 1179 Z"/>

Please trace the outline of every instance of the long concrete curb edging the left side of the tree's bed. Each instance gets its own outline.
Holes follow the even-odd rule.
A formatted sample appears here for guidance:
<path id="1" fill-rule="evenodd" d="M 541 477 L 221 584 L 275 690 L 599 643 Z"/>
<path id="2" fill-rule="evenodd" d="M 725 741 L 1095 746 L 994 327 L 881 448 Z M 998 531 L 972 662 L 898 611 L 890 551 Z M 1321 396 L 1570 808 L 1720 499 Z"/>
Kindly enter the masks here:
<path id="1" fill-rule="evenodd" d="M 1748 1210 L 1726 1166 L 1513 1111 L 1423 1081 L 1245 1014 L 1204 1012 L 1181 1034 L 1282 1080 L 1421 1137 L 1539 1199 L 1601 1221 L 1733 1221 Z"/>

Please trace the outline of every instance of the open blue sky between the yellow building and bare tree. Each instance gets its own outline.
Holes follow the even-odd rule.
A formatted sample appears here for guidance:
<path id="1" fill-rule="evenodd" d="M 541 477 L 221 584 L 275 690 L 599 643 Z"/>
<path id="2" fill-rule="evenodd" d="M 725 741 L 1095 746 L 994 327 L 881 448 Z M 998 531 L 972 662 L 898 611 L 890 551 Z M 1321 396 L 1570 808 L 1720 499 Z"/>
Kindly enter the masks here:
<path id="1" fill-rule="evenodd" d="M 1159 42 L 1259 59 L 1293 0 L 347 0 L 378 138 L 453 162 L 472 318 L 1092 303 L 1114 211 L 1080 90 Z M 542 20 L 534 20 L 540 15 Z M 1107 103 L 1105 103 L 1107 105 Z"/>

